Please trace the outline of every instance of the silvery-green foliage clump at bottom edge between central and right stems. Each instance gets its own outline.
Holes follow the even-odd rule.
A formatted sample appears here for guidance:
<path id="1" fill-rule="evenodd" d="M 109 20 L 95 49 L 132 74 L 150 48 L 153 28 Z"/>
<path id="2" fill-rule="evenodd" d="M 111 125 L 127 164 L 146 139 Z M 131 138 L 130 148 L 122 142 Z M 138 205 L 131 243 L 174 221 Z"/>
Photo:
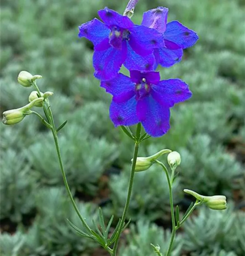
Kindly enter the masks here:
<path id="1" fill-rule="evenodd" d="M 120 256 L 155 256 L 151 243 L 160 246 L 160 252 L 165 255 L 170 242 L 170 230 L 164 230 L 155 224 L 142 219 L 131 225 L 127 235 L 128 245 L 122 245 L 119 250 Z M 182 235 L 177 234 L 173 244 L 171 256 L 180 256 L 183 246 Z"/>

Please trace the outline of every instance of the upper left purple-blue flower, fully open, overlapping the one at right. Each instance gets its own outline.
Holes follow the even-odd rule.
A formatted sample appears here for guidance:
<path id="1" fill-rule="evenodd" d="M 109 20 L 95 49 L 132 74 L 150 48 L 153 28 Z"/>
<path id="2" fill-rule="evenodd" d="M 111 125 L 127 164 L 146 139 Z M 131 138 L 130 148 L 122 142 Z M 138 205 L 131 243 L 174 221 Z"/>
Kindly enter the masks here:
<path id="1" fill-rule="evenodd" d="M 155 29 L 134 25 L 127 16 L 105 8 L 94 18 L 79 26 L 79 37 L 92 41 L 95 52 L 95 77 L 109 80 L 115 77 L 122 64 L 127 69 L 153 70 L 153 50 L 163 47 L 163 34 Z"/>

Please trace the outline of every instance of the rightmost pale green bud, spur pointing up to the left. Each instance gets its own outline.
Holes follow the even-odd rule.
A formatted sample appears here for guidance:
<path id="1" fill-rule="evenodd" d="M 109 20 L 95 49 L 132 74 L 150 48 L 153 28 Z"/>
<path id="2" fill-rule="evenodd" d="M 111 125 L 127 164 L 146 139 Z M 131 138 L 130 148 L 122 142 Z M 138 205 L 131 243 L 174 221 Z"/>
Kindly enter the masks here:
<path id="1" fill-rule="evenodd" d="M 199 201 L 203 201 L 210 209 L 225 210 L 227 208 L 225 196 L 202 196 L 189 189 L 184 189 L 184 192 L 192 195 Z"/>

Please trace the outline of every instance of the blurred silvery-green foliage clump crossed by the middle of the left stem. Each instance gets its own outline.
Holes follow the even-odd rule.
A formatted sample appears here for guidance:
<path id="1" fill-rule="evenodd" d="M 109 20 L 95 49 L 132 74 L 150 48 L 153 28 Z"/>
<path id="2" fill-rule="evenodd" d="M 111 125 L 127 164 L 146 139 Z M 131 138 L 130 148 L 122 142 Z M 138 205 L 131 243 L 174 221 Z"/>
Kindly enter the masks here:
<path id="1" fill-rule="evenodd" d="M 95 193 L 103 171 L 118 156 L 116 145 L 108 143 L 104 138 L 92 138 L 79 125 L 67 125 L 59 133 L 62 160 L 70 187 L 86 194 Z M 33 175 L 42 184 L 63 186 L 50 133 L 32 144 L 26 150 L 26 156 L 34 168 Z"/>

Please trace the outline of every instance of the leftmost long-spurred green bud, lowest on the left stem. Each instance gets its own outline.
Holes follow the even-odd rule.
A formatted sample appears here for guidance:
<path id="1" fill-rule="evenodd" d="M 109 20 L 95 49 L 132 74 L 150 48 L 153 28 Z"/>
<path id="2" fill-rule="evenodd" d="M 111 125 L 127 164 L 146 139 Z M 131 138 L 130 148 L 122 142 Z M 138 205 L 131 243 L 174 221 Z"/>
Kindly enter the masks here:
<path id="1" fill-rule="evenodd" d="M 29 104 L 18 109 L 11 109 L 3 112 L 2 122 L 5 125 L 14 125 L 24 119 L 26 115 L 30 115 L 30 109 L 37 103 L 42 102 L 43 98 L 38 98 L 30 102 Z"/>

